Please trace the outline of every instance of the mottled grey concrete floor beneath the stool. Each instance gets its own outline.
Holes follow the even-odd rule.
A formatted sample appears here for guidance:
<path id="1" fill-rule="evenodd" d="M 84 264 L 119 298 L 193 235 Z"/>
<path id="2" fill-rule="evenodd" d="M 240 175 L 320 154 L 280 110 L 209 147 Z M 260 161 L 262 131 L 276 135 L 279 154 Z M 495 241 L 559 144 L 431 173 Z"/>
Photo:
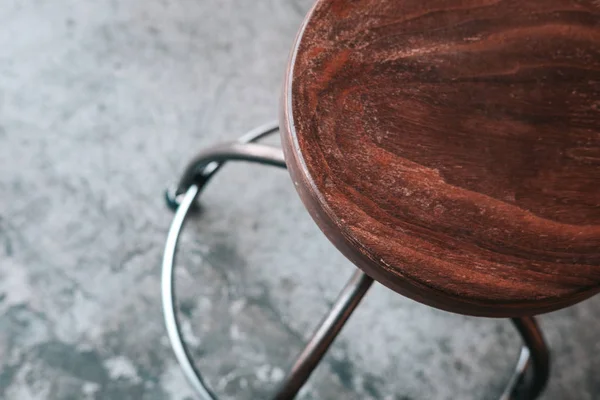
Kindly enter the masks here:
<path id="1" fill-rule="evenodd" d="M 162 192 L 277 115 L 308 0 L 0 2 L 0 398 L 192 399 L 163 328 Z M 265 399 L 352 266 L 285 171 L 228 166 L 177 274 L 199 366 Z M 600 297 L 545 315 L 544 399 L 600 398 Z M 494 399 L 519 340 L 376 286 L 300 398 Z"/>

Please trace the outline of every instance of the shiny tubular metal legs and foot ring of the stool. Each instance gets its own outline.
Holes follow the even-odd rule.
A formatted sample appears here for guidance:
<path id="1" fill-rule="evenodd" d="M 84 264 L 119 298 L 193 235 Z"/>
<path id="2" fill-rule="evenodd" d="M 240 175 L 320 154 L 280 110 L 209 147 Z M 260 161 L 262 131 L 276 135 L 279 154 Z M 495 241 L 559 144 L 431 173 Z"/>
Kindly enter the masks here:
<path id="1" fill-rule="evenodd" d="M 166 193 L 167 204 L 175 210 L 169 229 L 162 264 L 162 302 L 167 334 L 175 357 L 183 373 L 202 400 L 217 400 L 192 362 L 190 351 L 183 340 L 177 312 L 174 286 L 174 268 L 179 236 L 189 211 L 210 178 L 227 161 L 247 161 L 286 168 L 280 149 L 253 142 L 278 131 L 276 122 L 260 126 L 237 142 L 215 146 L 199 153 L 188 164 L 177 188 Z M 354 312 L 373 279 L 357 269 L 340 292 L 335 303 L 323 318 L 306 347 L 289 370 L 274 400 L 293 399 L 329 346 Z M 549 351 L 543 334 L 533 317 L 513 318 L 524 345 L 508 386 L 500 400 L 535 399 L 544 389 L 549 375 Z"/>

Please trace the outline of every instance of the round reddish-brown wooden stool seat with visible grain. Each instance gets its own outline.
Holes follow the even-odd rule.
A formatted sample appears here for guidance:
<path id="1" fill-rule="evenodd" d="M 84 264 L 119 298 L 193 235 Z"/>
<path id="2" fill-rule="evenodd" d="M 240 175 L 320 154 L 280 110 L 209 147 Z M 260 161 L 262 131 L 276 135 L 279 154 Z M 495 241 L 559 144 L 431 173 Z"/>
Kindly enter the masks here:
<path id="1" fill-rule="evenodd" d="M 520 316 L 600 290 L 600 3 L 320 0 L 282 99 L 309 212 L 391 289 Z"/>

